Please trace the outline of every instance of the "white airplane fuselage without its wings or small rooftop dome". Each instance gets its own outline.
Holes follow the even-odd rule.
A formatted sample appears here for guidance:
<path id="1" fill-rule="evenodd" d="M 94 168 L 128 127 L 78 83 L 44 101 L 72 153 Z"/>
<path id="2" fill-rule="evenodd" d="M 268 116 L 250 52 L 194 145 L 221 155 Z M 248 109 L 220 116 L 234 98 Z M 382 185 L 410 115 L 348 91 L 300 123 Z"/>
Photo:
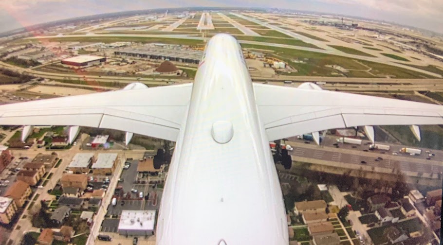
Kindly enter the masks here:
<path id="1" fill-rule="evenodd" d="M 218 121 L 232 123 L 227 143 L 211 135 Z M 231 35 L 208 41 L 182 128 L 160 206 L 157 244 L 288 244 L 277 171 L 241 47 Z"/>

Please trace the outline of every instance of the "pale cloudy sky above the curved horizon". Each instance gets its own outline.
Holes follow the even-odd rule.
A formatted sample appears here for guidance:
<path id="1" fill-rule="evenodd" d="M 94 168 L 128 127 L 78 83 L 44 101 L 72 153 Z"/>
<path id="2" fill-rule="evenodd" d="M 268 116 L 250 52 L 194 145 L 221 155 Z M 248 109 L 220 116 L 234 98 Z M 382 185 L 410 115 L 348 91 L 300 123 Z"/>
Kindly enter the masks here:
<path id="1" fill-rule="evenodd" d="M 391 21 L 443 33 L 443 0 L 0 0 L 0 32 L 111 12 L 200 6 L 317 11 Z"/>

